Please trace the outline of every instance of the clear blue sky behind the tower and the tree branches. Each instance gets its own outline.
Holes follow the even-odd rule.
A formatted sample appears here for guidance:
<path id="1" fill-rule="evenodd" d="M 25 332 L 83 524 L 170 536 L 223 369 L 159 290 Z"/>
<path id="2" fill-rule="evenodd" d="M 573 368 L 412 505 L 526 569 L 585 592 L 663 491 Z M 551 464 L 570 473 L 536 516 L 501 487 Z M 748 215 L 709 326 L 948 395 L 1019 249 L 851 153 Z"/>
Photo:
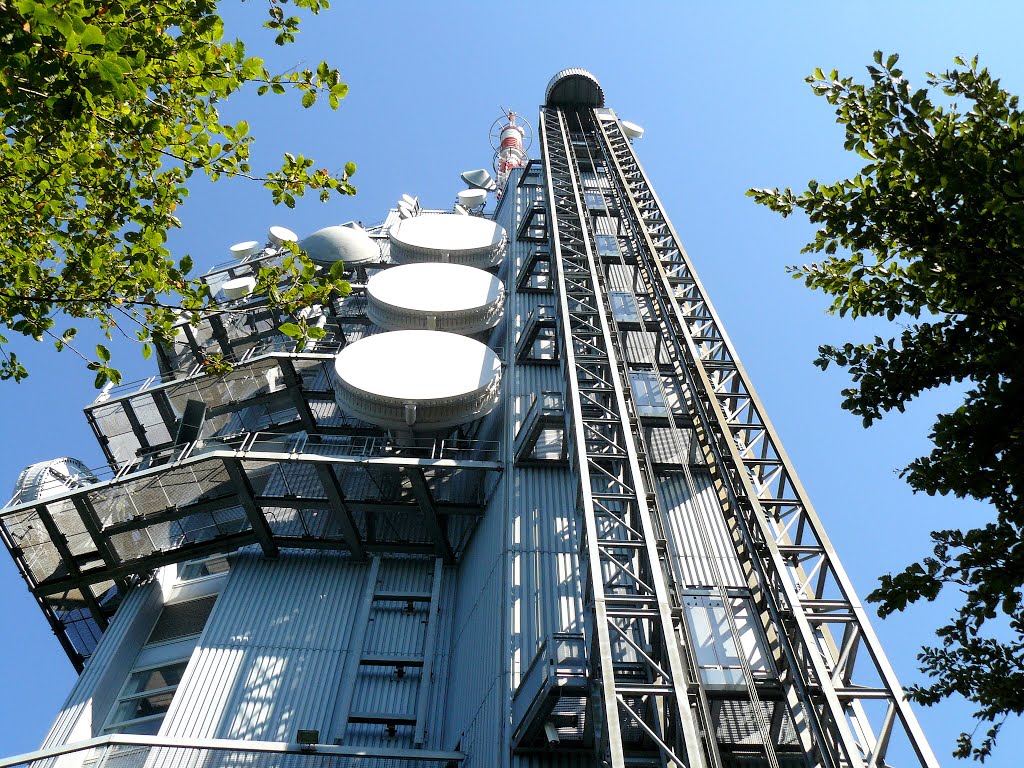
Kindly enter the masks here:
<path id="1" fill-rule="evenodd" d="M 554 7 L 552 7 L 554 6 Z M 351 91 L 337 113 L 303 111 L 297 99 L 245 94 L 226 104 L 258 138 L 255 163 L 304 153 L 330 167 L 358 166 L 358 196 L 322 206 L 274 209 L 243 183 L 197 188 L 172 242 L 198 264 L 222 261 L 232 243 L 263 240 L 269 224 L 300 234 L 349 219 L 381 219 L 402 193 L 447 207 L 458 173 L 489 166 L 487 130 L 500 108 L 536 122 L 550 76 L 591 70 L 609 105 L 639 122 L 637 144 L 657 193 L 861 595 L 883 572 L 928 550 L 928 531 L 973 524 L 985 510 L 914 497 L 895 474 L 927 449 L 937 394 L 863 430 L 840 410 L 838 373 L 811 365 L 819 343 L 871 335 L 826 316 L 822 297 L 783 267 L 801 260 L 805 222 L 758 209 L 750 186 L 833 180 L 857 167 L 842 151 L 828 105 L 803 78 L 814 67 L 863 76 L 871 51 L 897 51 L 912 82 L 956 54 L 979 53 L 1014 92 L 1024 92 L 1024 5 L 860 3 L 342 3 L 307 19 L 299 45 L 274 49 L 258 30 L 261 0 L 228 3 L 233 34 L 283 67 L 338 66 Z M 536 148 L 536 147 L 535 147 Z M 81 413 L 94 397 L 80 360 L 52 349 L 20 350 L 28 382 L 0 385 L 0 488 L 31 462 L 75 456 L 101 463 Z M 151 371 L 121 352 L 126 378 Z M 74 672 L 9 558 L 0 553 L 0 756 L 35 749 L 74 681 Z M 913 608 L 874 626 L 901 680 L 920 680 L 914 655 L 934 641 L 948 605 Z M 919 710 L 943 762 L 970 710 L 947 702 Z M 986 765 L 1019 765 L 1020 721 Z"/>

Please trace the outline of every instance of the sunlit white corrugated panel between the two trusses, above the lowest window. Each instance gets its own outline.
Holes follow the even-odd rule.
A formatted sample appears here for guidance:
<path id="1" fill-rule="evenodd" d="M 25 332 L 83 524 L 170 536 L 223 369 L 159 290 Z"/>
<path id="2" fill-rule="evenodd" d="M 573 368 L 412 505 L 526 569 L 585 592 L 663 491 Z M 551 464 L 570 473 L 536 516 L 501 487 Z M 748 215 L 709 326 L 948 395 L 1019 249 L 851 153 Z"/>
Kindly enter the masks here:
<path id="1" fill-rule="evenodd" d="M 657 478 L 658 503 L 669 522 L 669 536 L 680 578 L 686 587 L 745 587 L 739 559 L 722 516 L 707 470 L 690 472 L 696 485 L 687 486 L 683 472 Z"/>

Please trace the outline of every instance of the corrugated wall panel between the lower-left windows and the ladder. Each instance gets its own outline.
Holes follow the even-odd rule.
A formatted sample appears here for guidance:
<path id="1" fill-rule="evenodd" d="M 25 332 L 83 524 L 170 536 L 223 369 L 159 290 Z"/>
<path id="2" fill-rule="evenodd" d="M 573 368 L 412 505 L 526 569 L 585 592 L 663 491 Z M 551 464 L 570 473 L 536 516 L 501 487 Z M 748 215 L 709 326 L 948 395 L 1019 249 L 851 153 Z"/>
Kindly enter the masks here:
<path id="1" fill-rule="evenodd" d="M 326 733 L 367 567 L 333 553 L 240 554 L 161 732 Z"/>

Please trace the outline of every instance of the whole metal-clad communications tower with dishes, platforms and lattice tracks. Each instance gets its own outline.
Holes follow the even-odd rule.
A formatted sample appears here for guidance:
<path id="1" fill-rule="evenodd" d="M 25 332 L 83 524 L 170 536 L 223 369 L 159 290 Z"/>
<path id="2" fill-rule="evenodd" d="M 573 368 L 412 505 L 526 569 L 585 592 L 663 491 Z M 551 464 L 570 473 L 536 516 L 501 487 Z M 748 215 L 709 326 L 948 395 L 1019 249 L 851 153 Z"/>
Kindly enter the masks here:
<path id="1" fill-rule="evenodd" d="M 937 766 L 642 129 L 575 69 L 540 158 L 508 117 L 452 210 L 232 247 L 86 407 L 108 466 L 23 472 L 0 536 L 81 676 L 0 768 Z M 291 240 L 353 285 L 304 348 L 254 292 Z"/>

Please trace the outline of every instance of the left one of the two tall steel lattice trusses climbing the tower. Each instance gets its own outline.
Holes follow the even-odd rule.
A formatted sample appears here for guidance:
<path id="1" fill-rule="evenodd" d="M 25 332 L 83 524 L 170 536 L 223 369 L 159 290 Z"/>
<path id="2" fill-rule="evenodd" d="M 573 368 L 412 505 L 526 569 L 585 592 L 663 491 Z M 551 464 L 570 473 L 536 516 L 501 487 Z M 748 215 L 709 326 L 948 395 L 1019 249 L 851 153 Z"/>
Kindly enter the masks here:
<path id="1" fill-rule="evenodd" d="M 571 403 L 570 460 L 581 483 L 587 637 L 603 714 L 599 754 L 616 768 L 702 765 L 657 546 L 662 537 L 633 439 L 636 415 L 582 207 L 567 124 L 581 117 L 589 118 L 546 108 L 540 133 Z"/>

